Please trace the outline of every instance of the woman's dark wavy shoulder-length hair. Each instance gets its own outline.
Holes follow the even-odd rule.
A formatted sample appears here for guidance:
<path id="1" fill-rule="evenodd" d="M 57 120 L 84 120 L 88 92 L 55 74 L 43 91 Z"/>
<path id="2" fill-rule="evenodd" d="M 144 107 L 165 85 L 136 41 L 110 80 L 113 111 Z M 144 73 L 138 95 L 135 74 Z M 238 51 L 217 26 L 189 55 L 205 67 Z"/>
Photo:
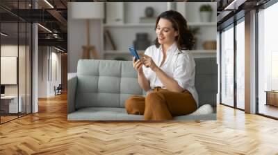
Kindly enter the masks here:
<path id="1" fill-rule="evenodd" d="M 183 15 L 174 10 L 162 12 L 161 15 L 159 15 L 156 19 L 156 27 L 159 19 L 161 18 L 171 21 L 172 27 L 178 32 L 179 35 L 177 35 L 175 40 L 177 42 L 179 50 L 191 50 L 195 44 L 195 38 L 193 36 L 193 33 L 191 33 L 191 31 L 189 30 L 187 21 L 186 19 L 184 19 Z M 158 48 L 160 45 L 158 43 L 157 37 L 154 41 L 154 44 L 156 45 L 156 48 Z"/>

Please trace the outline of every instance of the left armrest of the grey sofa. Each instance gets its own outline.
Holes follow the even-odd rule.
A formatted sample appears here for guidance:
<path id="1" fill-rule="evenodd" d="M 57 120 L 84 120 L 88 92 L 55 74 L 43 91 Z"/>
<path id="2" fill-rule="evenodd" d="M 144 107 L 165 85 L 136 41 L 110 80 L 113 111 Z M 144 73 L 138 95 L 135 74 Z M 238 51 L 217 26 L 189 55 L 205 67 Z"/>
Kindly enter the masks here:
<path id="1" fill-rule="evenodd" d="M 67 113 L 75 111 L 77 75 L 76 73 L 67 74 Z"/>

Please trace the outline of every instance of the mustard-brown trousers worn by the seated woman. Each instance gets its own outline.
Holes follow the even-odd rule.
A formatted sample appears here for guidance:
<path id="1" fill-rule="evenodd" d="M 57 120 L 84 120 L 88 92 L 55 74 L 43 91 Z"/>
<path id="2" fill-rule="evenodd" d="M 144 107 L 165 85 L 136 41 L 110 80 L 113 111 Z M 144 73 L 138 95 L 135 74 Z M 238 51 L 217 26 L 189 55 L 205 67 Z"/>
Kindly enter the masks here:
<path id="1" fill-rule="evenodd" d="M 124 104 L 127 113 L 144 115 L 145 120 L 172 120 L 197 110 L 197 104 L 189 91 L 181 93 L 156 87 L 147 97 L 132 95 Z"/>

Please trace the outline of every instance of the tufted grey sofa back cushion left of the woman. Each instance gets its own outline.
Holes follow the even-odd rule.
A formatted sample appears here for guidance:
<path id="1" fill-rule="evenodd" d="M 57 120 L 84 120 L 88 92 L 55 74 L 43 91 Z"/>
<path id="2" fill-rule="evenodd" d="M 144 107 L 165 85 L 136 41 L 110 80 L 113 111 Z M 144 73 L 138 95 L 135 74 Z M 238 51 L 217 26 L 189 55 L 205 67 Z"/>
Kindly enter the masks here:
<path id="1" fill-rule="evenodd" d="M 76 109 L 124 107 L 131 95 L 143 95 L 132 62 L 79 60 Z"/>

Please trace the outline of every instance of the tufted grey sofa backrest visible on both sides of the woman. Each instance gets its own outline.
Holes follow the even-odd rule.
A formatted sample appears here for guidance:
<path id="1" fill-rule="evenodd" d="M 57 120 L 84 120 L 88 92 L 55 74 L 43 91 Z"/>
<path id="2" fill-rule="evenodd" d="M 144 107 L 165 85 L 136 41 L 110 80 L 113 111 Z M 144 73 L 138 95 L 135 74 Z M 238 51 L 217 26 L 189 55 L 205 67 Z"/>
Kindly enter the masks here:
<path id="1" fill-rule="evenodd" d="M 199 106 L 215 107 L 217 65 L 215 58 L 195 58 L 195 86 Z M 79 60 L 76 109 L 83 107 L 124 107 L 131 95 L 143 95 L 131 61 Z"/>

